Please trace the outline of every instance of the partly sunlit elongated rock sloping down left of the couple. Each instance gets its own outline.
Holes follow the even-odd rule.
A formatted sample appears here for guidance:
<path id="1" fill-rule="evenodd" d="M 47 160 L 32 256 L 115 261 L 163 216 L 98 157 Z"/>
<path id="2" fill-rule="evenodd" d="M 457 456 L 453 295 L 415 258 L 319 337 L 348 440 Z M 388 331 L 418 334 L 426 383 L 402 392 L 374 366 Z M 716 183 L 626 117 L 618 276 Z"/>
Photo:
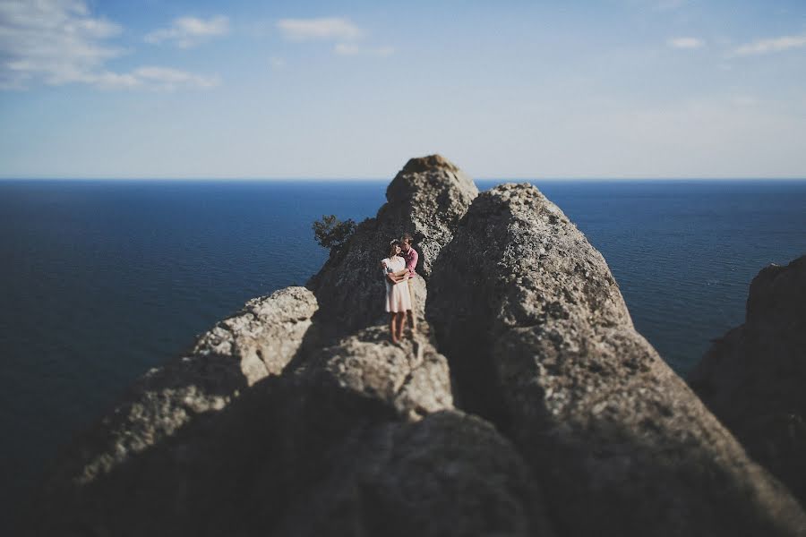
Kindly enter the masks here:
<path id="1" fill-rule="evenodd" d="M 138 380 L 111 413 L 73 442 L 47 489 L 90 483 L 190 422 L 220 411 L 257 380 L 279 374 L 303 346 L 316 309 L 313 293 L 304 287 L 246 303 L 203 334 L 190 354 Z"/>

